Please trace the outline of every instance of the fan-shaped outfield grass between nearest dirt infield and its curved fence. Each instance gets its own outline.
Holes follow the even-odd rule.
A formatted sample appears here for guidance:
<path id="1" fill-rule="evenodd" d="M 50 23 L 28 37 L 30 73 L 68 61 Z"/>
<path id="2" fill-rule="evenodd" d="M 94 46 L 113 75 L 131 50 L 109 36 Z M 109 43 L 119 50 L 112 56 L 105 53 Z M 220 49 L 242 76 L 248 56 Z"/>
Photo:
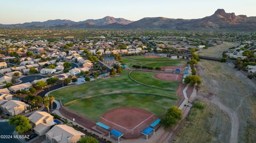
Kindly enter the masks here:
<path id="1" fill-rule="evenodd" d="M 161 116 L 175 102 L 176 100 L 173 99 L 143 94 L 114 94 L 81 100 L 67 107 L 94 121 L 98 121 L 103 113 L 122 106 L 143 108 L 157 116 Z"/>

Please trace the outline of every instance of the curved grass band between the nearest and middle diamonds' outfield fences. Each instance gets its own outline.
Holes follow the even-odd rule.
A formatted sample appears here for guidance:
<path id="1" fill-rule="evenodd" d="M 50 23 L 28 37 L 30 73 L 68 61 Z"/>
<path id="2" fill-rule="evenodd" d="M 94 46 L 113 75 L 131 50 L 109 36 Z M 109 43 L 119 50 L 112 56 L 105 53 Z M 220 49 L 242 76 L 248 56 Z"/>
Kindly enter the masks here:
<path id="1" fill-rule="evenodd" d="M 51 94 L 55 96 L 57 100 L 61 100 L 62 104 L 70 102 L 78 98 L 85 96 L 92 96 L 98 94 L 106 94 L 110 92 L 148 92 L 153 94 L 160 94 L 178 98 L 175 92 L 166 91 L 162 89 L 151 88 L 140 85 L 129 79 L 129 72 L 124 70 L 118 77 L 112 77 L 108 79 L 98 79 L 77 85 L 73 87 L 67 87 L 60 90 L 53 91 Z M 149 79 L 150 80 L 150 79 Z M 165 81 L 163 81 L 165 84 Z M 175 86 L 175 85 L 174 85 Z M 173 87 L 176 89 L 177 87 Z"/>

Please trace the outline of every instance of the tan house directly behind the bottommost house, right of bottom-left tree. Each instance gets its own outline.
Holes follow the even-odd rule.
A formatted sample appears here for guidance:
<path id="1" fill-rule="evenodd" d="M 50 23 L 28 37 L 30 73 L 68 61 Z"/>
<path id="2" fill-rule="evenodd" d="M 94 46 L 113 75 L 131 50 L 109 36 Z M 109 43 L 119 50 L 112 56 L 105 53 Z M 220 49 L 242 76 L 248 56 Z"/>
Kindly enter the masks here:
<path id="1" fill-rule="evenodd" d="M 43 136 L 54 125 L 53 116 L 47 112 L 37 111 L 28 117 L 33 130 L 38 136 Z"/>

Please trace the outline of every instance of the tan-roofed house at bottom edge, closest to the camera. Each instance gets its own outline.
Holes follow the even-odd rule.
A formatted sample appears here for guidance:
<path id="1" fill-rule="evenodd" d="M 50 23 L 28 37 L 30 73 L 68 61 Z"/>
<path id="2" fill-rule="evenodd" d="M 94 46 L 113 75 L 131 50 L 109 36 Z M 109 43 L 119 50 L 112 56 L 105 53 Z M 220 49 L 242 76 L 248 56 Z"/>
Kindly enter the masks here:
<path id="1" fill-rule="evenodd" d="M 54 127 L 45 133 L 46 139 L 51 142 L 70 143 L 77 142 L 85 134 L 69 127 L 66 124 L 54 125 Z"/>

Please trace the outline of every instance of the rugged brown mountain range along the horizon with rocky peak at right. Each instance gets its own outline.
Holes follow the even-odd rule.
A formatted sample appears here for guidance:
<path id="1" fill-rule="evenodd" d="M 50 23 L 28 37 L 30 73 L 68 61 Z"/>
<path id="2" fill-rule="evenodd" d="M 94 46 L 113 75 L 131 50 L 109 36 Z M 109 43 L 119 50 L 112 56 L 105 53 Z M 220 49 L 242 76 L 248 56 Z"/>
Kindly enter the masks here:
<path id="1" fill-rule="evenodd" d="M 106 16 L 102 19 L 85 21 L 47 20 L 22 24 L 0 24 L 0 28 L 23 29 L 169 29 L 169 30 L 235 30 L 256 31 L 256 16 L 235 15 L 218 9 L 202 19 L 170 19 L 163 17 L 143 18 L 130 21 Z"/>

